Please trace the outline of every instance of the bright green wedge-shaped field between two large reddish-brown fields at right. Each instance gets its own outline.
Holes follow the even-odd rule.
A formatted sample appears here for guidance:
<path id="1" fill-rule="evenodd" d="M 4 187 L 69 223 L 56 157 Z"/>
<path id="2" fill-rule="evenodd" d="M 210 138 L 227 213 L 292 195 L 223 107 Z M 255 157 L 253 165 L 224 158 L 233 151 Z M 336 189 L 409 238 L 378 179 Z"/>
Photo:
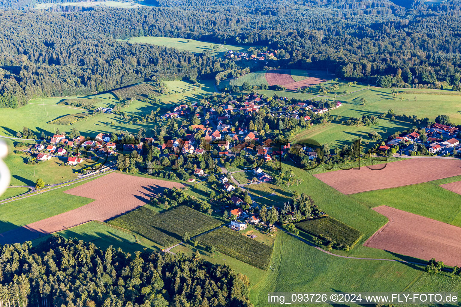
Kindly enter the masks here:
<path id="1" fill-rule="evenodd" d="M 417 185 L 352 194 L 350 198 L 370 208 L 386 205 L 461 227 L 461 195 L 439 186 L 459 180 L 461 176 L 455 176 Z"/>

